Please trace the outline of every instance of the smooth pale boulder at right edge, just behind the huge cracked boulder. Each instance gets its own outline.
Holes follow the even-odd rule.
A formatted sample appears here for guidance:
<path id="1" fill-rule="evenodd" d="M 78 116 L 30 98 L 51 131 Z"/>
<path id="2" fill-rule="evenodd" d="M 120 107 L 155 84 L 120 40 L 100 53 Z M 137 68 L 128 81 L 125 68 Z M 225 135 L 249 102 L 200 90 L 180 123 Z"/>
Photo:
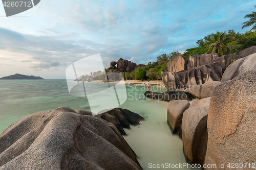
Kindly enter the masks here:
<path id="1" fill-rule="evenodd" d="M 256 53 L 238 59 L 237 61 L 230 64 L 225 70 L 221 82 L 232 80 L 234 77 L 253 68 L 256 68 Z"/>

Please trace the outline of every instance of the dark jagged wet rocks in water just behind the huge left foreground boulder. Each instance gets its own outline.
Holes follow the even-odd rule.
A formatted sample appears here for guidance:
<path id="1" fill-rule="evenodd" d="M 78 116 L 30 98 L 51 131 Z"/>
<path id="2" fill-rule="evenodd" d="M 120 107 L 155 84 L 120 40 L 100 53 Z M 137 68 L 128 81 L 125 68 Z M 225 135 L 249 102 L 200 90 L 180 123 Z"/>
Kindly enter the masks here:
<path id="1" fill-rule="evenodd" d="M 130 129 L 130 125 L 139 125 L 139 122 L 144 120 L 139 114 L 121 108 L 112 109 L 106 112 L 105 110 L 102 110 L 98 113 L 98 116 L 106 120 L 106 122 L 114 124 L 122 135 L 126 135 L 123 128 Z"/>

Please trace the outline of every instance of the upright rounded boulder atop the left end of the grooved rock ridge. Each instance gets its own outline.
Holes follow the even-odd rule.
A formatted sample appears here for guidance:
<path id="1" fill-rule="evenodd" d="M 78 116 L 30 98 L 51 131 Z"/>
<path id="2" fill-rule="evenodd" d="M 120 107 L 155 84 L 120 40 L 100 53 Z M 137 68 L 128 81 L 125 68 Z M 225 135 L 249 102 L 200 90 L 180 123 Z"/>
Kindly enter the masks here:
<path id="1" fill-rule="evenodd" d="M 176 54 L 167 63 L 168 71 L 181 71 L 187 69 L 188 58 L 179 54 Z"/>

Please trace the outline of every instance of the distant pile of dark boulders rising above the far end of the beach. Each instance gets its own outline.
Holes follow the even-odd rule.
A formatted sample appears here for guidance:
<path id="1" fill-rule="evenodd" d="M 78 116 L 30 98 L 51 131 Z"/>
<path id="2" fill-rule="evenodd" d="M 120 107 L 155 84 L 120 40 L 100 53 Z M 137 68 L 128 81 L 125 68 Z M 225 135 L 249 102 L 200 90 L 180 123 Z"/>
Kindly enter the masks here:
<path id="1" fill-rule="evenodd" d="M 132 72 L 136 68 L 144 67 L 144 66 L 145 66 L 144 64 L 137 65 L 132 61 L 128 61 L 120 58 L 117 62 L 116 61 L 110 62 L 110 67 L 107 70 L 118 71 L 118 72 Z"/>

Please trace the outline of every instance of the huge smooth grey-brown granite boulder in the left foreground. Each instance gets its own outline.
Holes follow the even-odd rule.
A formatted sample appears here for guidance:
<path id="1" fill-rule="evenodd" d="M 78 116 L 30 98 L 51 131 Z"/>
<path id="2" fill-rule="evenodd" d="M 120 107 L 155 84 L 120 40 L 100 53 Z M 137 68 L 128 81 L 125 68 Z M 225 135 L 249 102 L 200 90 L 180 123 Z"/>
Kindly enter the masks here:
<path id="1" fill-rule="evenodd" d="M 67 107 L 16 120 L 0 134 L 0 169 L 141 169 L 116 127 Z"/>

